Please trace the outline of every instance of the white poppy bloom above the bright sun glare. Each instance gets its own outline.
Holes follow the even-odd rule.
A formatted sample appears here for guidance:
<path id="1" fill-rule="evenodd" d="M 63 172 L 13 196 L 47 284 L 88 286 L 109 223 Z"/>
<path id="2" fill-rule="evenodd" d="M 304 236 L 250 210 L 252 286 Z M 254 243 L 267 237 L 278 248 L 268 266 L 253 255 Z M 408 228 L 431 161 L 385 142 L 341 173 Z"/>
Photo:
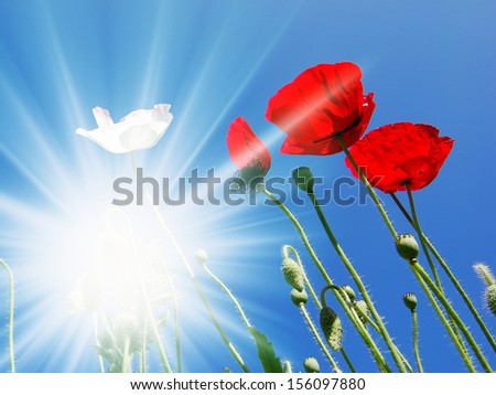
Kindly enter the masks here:
<path id="1" fill-rule="evenodd" d="M 114 153 L 147 149 L 159 142 L 172 121 L 169 111 L 171 105 L 158 104 L 153 109 L 138 109 L 114 124 L 105 108 L 95 107 L 93 115 L 98 128 L 85 130 L 77 128 L 76 134 L 87 137 L 98 146 Z"/>

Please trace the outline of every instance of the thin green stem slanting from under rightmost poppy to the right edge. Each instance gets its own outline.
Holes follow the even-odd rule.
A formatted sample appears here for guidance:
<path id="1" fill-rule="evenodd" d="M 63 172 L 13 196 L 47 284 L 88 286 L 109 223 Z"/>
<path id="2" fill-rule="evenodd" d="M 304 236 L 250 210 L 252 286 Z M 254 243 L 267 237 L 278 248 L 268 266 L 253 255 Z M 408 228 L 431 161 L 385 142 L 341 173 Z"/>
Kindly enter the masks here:
<path id="1" fill-rule="evenodd" d="M 395 193 L 391 193 L 390 195 L 391 195 L 392 200 L 395 201 L 395 203 L 400 209 L 400 211 L 403 213 L 403 215 L 407 218 L 407 221 L 414 227 L 414 221 L 410 216 L 410 214 L 407 212 L 407 210 L 405 209 L 403 204 L 399 201 L 399 199 L 396 196 Z M 475 321 L 479 325 L 481 330 L 483 331 L 484 335 L 486 337 L 487 341 L 489 342 L 490 346 L 493 348 L 493 351 L 496 351 L 496 342 L 495 342 L 493 335 L 490 334 L 489 329 L 484 323 L 481 314 L 478 313 L 477 309 L 475 308 L 474 303 L 472 302 L 472 299 L 468 297 L 468 295 L 466 293 L 465 289 L 462 287 L 462 285 L 457 280 L 456 276 L 450 269 L 450 266 L 448 266 L 446 261 L 442 258 L 442 256 L 435 249 L 434 245 L 429 241 L 429 238 L 423 234 L 423 232 L 420 232 L 419 237 L 420 237 L 420 239 L 423 243 L 425 243 L 425 245 L 432 252 L 432 254 L 434 255 L 435 259 L 439 261 L 439 264 L 441 265 L 442 269 L 448 275 L 448 277 L 450 278 L 451 282 L 456 288 L 456 290 L 459 291 L 459 293 L 462 297 L 463 301 L 465 302 L 466 307 L 468 308 L 468 310 L 471 311 L 472 316 L 474 317 Z"/>

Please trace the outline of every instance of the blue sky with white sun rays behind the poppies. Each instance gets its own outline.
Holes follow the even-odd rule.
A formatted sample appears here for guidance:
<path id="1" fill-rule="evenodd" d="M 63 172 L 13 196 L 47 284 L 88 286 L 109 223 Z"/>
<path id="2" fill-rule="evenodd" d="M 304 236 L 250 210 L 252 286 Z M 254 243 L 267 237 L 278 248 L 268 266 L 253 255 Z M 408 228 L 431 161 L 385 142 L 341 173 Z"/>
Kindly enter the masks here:
<path id="1" fill-rule="evenodd" d="M 67 295 L 97 259 L 90 246 L 112 199 L 117 177 L 129 177 L 127 156 L 104 151 L 76 136 L 94 128 L 91 108 L 116 119 L 157 103 L 172 104 L 174 120 L 159 145 L 139 152 L 138 163 L 157 178 L 188 177 L 211 168 L 236 171 L 225 142 L 230 121 L 244 116 L 270 146 L 269 175 L 288 177 L 309 166 L 326 185 L 348 175 L 343 154 L 278 153 L 283 134 L 265 120 L 269 98 L 305 68 L 351 61 L 363 70 L 365 92 L 377 104 L 368 130 L 396 121 L 427 122 L 455 139 L 438 179 L 416 193 L 423 228 L 481 307 L 483 286 L 472 265 L 495 265 L 494 156 L 496 105 L 492 1 L 25 1 L 0 2 L 0 257 L 17 278 L 17 352 L 20 371 L 94 372 L 89 316 L 72 317 Z M 289 185 L 287 186 L 289 189 Z M 349 190 L 356 194 L 356 188 Z M 399 232 L 410 232 L 384 196 Z M 405 198 L 405 196 L 402 196 Z M 316 288 L 323 281 L 291 224 L 276 207 L 192 206 L 160 209 L 190 258 L 204 248 L 212 269 L 239 297 L 254 325 L 278 355 L 320 359 L 280 275 L 280 247 L 302 253 Z M 291 204 L 290 204 L 291 206 Z M 351 282 L 331 250 L 313 209 L 292 207 L 337 284 Z M 129 207 L 152 231 L 151 209 Z M 375 207 L 324 207 L 386 317 L 389 331 L 413 362 L 410 317 L 403 292 L 419 296 L 420 350 L 430 372 L 464 372 L 411 271 L 398 258 Z M 159 233 L 160 231 L 158 231 Z M 148 235 L 148 234 L 147 234 Z M 143 243 L 164 243 L 160 237 Z M 166 248 L 161 246 L 160 248 Z M 174 260 L 173 257 L 170 258 Z M 175 268 L 184 298 L 184 364 L 192 372 L 236 370 L 205 318 L 184 270 Z M 233 306 L 204 276 L 215 309 L 252 370 L 255 348 Z M 460 298 L 448 292 L 493 365 L 487 346 Z M 7 282 L 0 278 L 0 328 L 6 328 Z M 312 311 L 316 318 L 315 311 Z M 168 330 L 166 330 L 168 331 Z M 170 334 L 170 332 L 166 332 Z M 7 341 L 0 333 L 0 344 Z M 376 371 L 360 339 L 346 323 L 344 344 L 360 371 Z M 172 352 L 173 345 L 169 344 Z M 150 356 L 157 365 L 157 355 Z M 343 363 L 342 363 L 343 364 Z M 0 350 L 0 369 L 8 369 Z"/>

